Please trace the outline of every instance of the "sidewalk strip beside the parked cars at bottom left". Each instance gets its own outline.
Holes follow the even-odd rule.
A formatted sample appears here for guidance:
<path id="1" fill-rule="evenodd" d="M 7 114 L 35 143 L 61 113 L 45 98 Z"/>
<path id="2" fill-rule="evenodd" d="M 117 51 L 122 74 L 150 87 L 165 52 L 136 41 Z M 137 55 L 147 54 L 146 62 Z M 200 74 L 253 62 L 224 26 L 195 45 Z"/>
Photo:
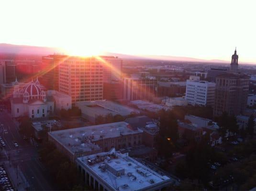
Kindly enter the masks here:
<path id="1" fill-rule="evenodd" d="M 13 186 L 15 187 L 16 191 L 26 191 L 27 187 L 29 187 L 29 184 L 24 177 L 22 171 L 20 170 L 19 166 L 18 169 L 16 168 L 16 165 L 9 163 L 9 160 L 4 161 L 4 167 L 7 170 L 9 177 L 11 179 L 11 182 Z"/>

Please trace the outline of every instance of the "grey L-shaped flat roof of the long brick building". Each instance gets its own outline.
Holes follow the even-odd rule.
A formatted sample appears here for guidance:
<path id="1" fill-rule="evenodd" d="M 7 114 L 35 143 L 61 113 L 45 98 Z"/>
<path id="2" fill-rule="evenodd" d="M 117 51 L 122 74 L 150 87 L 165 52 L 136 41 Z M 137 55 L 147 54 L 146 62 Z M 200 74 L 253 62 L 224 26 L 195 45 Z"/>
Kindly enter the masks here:
<path id="1" fill-rule="evenodd" d="M 116 138 L 121 135 L 142 133 L 140 129 L 132 130 L 125 122 L 101 124 L 96 126 L 78 127 L 48 132 L 48 135 L 58 141 L 71 153 L 87 152 L 100 149 L 92 142 L 102 138 Z"/>

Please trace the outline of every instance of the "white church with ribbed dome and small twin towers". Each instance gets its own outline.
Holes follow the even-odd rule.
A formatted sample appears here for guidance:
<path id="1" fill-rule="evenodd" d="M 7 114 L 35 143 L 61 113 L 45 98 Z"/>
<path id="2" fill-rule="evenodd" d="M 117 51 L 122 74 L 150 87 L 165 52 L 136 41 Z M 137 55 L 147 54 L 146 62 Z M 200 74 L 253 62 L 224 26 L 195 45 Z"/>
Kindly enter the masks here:
<path id="1" fill-rule="evenodd" d="M 45 87 L 40 85 L 38 79 L 22 86 L 16 79 L 13 87 L 13 98 L 11 99 L 12 117 L 41 118 L 54 114 L 56 110 L 71 108 L 70 96 L 57 92 L 60 98 L 63 97 L 59 101 L 59 97 L 56 97 L 52 91 L 50 92 L 51 94 L 48 95 Z M 58 99 L 58 108 L 55 108 L 56 98 Z"/>

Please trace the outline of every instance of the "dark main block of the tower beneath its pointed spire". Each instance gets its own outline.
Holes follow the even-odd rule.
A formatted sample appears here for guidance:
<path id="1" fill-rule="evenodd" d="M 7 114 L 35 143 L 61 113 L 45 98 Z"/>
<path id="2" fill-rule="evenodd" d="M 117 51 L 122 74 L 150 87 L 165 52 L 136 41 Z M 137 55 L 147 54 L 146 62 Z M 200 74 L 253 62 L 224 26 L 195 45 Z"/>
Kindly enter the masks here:
<path id="1" fill-rule="evenodd" d="M 243 114 L 249 90 L 250 77 L 245 74 L 227 73 L 216 78 L 214 116 L 223 112 L 229 115 Z"/>

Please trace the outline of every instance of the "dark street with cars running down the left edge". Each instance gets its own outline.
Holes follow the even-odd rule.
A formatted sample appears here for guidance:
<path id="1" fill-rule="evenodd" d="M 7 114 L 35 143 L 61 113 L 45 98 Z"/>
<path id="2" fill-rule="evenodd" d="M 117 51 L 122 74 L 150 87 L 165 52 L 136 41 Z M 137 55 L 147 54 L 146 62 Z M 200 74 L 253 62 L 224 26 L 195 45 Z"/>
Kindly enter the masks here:
<path id="1" fill-rule="evenodd" d="M 6 145 L 1 150 L 0 163 L 8 162 L 18 167 L 29 185 L 28 190 L 54 190 L 44 165 L 38 159 L 37 149 L 29 141 L 23 140 L 17 122 L 13 121 L 6 110 L 0 111 L 0 123 L 3 124 L 0 126 L 0 137 Z M 15 147 L 13 141 L 19 146 Z"/>

